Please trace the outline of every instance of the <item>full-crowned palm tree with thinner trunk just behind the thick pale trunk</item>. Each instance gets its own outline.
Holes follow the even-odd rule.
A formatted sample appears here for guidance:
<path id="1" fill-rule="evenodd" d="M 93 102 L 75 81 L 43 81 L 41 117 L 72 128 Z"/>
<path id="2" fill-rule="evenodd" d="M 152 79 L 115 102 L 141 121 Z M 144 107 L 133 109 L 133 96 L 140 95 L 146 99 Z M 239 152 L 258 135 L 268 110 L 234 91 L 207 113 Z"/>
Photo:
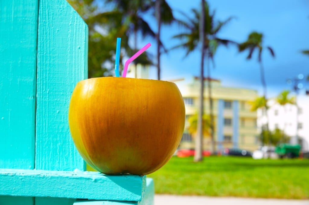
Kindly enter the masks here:
<path id="1" fill-rule="evenodd" d="M 202 38 L 205 42 L 204 46 L 201 46 L 202 48 L 202 58 L 201 58 L 201 74 L 200 74 L 200 82 L 201 82 L 201 89 L 200 89 L 200 107 L 199 107 L 199 112 L 200 112 L 200 119 L 203 113 L 203 104 L 204 104 L 204 58 L 208 59 L 208 61 L 211 59 L 213 60 L 215 50 L 218 46 L 224 45 L 227 46 L 230 43 L 235 43 L 231 40 L 228 39 L 222 39 L 218 37 L 218 33 L 221 31 L 222 27 L 225 26 L 228 22 L 231 21 L 231 17 L 227 18 L 225 21 L 216 21 L 215 20 L 215 12 L 210 12 L 209 6 L 205 1 L 204 2 L 205 6 L 202 6 L 205 10 L 205 21 L 202 23 L 202 26 L 200 26 L 200 20 L 201 14 L 198 12 L 196 9 L 192 9 L 193 13 L 193 18 L 189 17 L 187 14 L 184 14 L 184 17 L 186 18 L 185 21 L 177 19 L 176 21 L 183 26 L 186 31 L 180 34 L 177 34 L 173 36 L 173 38 L 180 39 L 182 42 L 174 46 L 172 49 L 175 48 L 184 48 L 186 50 L 185 57 L 188 56 L 193 50 L 197 49 L 199 39 L 200 39 L 200 28 L 203 27 L 202 30 L 204 30 L 204 34 L 201 34 L 204 38 Z M 203 11 L 202 10 L 202 11 Z M 210 127 L 211 127 L 211 147 L 212 151 L 215 150 L 214 146 L 214 116 L 213 116 L 213 101 L 211 98 L 211 78 L 210 78 L 210 69 L 208 67 L 207 69 L 207 79 L 208 79 L 208 91 L 209 91 L 209 102 L 210 102 Z M 201 127 L 200 127 L 201 129 Z M 202 133 L 202 132 L 200 132 Z M 201 139 L 203 139 L 202 136 L 200 136 Z M 196 143 L 200 143 L 201 141 L 196 141 Z M 200 145 L 196 144 L 196 147 L 201 147 Z M 197 152 L 196 152 L 197 153 Z"/>

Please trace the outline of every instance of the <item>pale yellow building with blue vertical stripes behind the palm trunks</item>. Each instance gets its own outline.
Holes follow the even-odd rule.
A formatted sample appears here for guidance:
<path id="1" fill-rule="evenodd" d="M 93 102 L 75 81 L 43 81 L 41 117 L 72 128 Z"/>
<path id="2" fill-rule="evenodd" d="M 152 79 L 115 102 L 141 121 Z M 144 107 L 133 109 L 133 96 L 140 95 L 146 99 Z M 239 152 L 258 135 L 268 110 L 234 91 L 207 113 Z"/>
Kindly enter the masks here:
<path id="1" fill-rule="evenodd" d="M 207 82 L 205 78 L 205 113 L 209 114 Z M 194 148 L 193 137 L 186 129 L 188 118 L 197 113 L 200 82 L 198 77 L 186 77 L 169 80 L 176 83 L 184 98 L 186 108 L 186 124 L 180 147 Z M 250 111 L 251 101 L 257 97 L 256 90 L 222 86 L 216 79 L 210 79 L 212 87 L 215 141 L 217 148 L 239 147 L 255 150 L 259 146 L 256 127 L 257 113 Z M 204 149 L 210 149 L 210 138 L 204 139 Z"/>

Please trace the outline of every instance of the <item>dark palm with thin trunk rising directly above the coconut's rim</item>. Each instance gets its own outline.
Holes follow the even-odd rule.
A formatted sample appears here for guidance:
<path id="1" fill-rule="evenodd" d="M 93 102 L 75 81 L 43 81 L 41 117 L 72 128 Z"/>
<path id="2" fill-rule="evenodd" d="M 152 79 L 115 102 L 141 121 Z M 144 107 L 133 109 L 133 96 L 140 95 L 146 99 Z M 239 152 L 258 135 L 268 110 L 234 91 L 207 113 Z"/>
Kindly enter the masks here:
<path id="1" fill-rule="evenodd" d="M 167 4 L 165 0 L 155 0 L 155 14 L 158 23 L 158 32 L 156 34 L 156 41 L 157 41 L 157 72 L 158 72 L 158 80 L 160 80 L 160 55 L 161 51 L 160 48 L 163 46 L 160 40 L 161 34 L 161 24 L 171 24 L 174 20 L 173 12 L 171 7 Z"/>

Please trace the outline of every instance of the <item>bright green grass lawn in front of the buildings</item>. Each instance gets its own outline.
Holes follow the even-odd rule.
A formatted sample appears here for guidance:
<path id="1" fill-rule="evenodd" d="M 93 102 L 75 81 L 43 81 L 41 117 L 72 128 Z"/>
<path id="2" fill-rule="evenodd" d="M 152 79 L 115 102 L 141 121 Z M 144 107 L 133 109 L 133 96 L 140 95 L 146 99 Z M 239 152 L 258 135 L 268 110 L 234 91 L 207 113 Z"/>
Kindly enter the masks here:
<path id="1" fill-rule="evenodd" d="M 260 198 L 309 198 L 309 160 L 245 157 L 172 159 L 149 177 L 155 193 Z"/>

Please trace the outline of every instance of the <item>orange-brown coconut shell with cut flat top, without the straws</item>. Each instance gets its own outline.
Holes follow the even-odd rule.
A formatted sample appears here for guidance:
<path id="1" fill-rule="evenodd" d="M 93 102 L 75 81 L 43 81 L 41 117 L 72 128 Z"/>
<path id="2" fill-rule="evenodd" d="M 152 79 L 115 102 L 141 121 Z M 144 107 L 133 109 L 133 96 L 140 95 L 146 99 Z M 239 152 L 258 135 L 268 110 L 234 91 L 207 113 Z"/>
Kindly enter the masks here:
<path id="1" fill-rule="evenodd" d="M 185 121 L 175 83 L 102 77 L 78 82 L 69 126 L 83 159 L 108 175 L 146 175 L 162 167 L 178 147 Z"/>

